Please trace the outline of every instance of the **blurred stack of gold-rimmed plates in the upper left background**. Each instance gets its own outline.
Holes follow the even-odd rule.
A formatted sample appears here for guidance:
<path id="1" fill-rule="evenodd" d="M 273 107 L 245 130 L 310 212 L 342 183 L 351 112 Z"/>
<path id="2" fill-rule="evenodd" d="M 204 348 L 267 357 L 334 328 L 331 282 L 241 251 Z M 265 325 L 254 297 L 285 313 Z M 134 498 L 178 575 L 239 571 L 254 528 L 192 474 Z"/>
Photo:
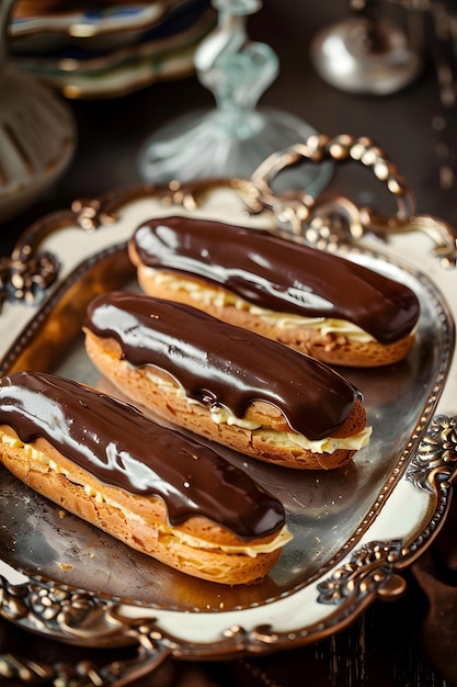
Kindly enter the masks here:
<path id="1" fill-rule="evenodd" d="M 14 64 L 67 98 L 112 98 L 188 76 L 216 23 L 209 0 L 76 5 L 22 0 L 11 25 Z"/>

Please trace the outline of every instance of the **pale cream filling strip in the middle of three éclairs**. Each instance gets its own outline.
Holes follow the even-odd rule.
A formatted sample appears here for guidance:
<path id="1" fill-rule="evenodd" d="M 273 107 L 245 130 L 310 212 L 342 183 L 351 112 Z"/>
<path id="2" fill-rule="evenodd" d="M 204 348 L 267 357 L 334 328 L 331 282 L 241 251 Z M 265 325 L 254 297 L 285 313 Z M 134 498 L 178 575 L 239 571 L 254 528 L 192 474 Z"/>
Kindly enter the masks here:
<path id="1" fill-rule="evenodd" d="M 206 406 L 199 403 L 199 401 L 188 398 L 185 395 L 184 388 L 181 385 L 176 386 L 178 382 L 176 384 L 173 384 L 171 379 L 168 381 L 156 374 L 152 367 L 145 367 L 142 368 L 142 371 L 155 385 L 159 386 L 161 392 L 174 394 L 180 398 L 185 399 L 190 405 L 196 404 L 207 409 Z M 235 425 L 236 427 L 255 431 L 256 433 L 262 435 L 262 439 L 270 446 L 290 448 L 290 444 L 295 444 L 306 449 L 307 451 L 311 451 L 312 453 L 333 453 L 338 449 L 358 451 L 368 444 L 373 431 L 372 427 L 365 427 L 352 437 L 325 437 L 324 439 L 311 440 L 298 432 L 263 429 L 263 426 L 259 423 L 237 417 L 225 405 L 212 407 L 209 408 L 209 413 L 213 421 L 217 425 Z"/>

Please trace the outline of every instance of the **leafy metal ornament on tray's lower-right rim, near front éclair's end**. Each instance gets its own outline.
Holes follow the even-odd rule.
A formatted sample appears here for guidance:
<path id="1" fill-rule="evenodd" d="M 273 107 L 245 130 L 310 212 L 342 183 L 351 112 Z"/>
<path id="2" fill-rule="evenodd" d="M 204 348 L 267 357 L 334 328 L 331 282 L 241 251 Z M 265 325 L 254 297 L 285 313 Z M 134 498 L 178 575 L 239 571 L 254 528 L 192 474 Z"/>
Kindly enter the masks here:
<path id="1" fill-rule="evenodd" d="M 399 561 L 402 542 L 374 541 L 355 551 L 351 559 L 334 570 L 330 577 L 318 585 L 321 604 L 341 604 L 352 596 L 365 597 L 378 593 L 393 575 Z"/>

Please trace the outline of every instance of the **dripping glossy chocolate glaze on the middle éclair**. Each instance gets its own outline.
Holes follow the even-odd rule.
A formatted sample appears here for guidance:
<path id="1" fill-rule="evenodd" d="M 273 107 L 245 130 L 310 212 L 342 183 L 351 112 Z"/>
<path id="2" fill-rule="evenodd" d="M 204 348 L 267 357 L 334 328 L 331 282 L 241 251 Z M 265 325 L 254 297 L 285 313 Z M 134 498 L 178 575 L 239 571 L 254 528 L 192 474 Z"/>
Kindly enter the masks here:
<path id="1" fill-rule="evenodd" d="M 270 402 L 308 439 L 331 436 L 361 397 L 327 365 L 187 305 L 102 294 L 90 304 L 84 327 L 118 341 L 134 367 L 165 370 L 206 406 L 221 404 L 243 417 L 253 401 Z"/>

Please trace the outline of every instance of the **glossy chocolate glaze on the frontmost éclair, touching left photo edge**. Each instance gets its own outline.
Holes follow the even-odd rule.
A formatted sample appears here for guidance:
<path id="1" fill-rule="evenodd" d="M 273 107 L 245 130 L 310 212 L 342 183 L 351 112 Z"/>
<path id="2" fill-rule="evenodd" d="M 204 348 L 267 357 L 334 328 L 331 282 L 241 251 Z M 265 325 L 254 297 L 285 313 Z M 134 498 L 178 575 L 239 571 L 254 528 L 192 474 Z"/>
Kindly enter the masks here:
<path id="1" fill-rule="evenodd" d="M 47 439 L 104 484 L 159 495 L 171 525 L 203 515 L 252 540 L 278 531 L 284 509 L 242 470 L 133 406 L 52 374 L 0 382 L 0 425 L 31 443 Z"/>

